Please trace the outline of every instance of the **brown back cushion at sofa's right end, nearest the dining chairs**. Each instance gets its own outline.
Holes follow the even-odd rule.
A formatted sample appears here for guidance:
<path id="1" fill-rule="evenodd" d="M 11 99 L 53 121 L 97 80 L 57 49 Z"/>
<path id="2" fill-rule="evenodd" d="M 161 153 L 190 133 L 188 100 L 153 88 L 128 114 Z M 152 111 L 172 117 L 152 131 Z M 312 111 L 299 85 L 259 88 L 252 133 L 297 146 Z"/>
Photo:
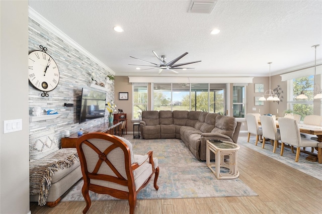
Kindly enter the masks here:
<path id="1" fill-rule="evenodd" d="M 211 132 L 220 133 L 232 138 L 236 126 L 235 118 L 219 115 L 216 117 L 215 128 Z"/>

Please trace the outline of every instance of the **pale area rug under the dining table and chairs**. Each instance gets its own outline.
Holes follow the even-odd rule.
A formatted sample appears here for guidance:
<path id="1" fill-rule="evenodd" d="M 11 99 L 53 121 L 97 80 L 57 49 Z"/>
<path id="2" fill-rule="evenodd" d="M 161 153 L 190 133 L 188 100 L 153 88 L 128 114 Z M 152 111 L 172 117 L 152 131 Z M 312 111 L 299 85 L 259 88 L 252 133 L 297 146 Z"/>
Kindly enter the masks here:
<path id="1" fill-rule="evenodd" d="M 268 157 L 271 157 L 281 163 L 284 163 L 294 169 L 297 169 L 301 172 L 304 172 L 307 175 L 315 177 L 319 180 L 322 180 L 322 164 L 316 162 L 311 162 L 305 160 L 308 154 L 301 152 L 299 156 L 298 162 L 295 162 L 295 153 L 292 153 L 290 148 L 284 147 L 283 156 L 280 155 L 281 147 L 276 148 L 276 153 L 273 153 L 273 146 L 269 143 L 265 143 L 265 148 L 262 149 L 262 143 L 258 142 L 257 146 L 255 146 L 256 137 L 251 136 L 250 142 L 247 143 L 247 137 L 238 137 L 238 145 L 245 146 L 250 149 L 253 149 L 259 153 L 262 153 Z M 310 148 L 309 148 L 310 149 Z M 296 148 L 294 149 L 296 152 Z M 316 152 L 316 151 L 315 151 Z"/>

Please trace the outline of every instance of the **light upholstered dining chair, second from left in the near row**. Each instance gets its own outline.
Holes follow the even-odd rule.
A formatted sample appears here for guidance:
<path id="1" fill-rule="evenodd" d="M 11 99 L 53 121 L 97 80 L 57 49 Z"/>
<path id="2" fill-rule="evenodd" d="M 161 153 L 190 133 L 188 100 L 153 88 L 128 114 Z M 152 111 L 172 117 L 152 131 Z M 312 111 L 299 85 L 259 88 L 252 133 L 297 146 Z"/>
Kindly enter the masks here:
<path id="1" fill-rule="evenodd" d="M 278 141 L 281 140 L 281 135 L 279 130 L 276 128 L 276 123 L 274 119 L 270 116 L 261 116 L 261 125 L 263 131 L 263 146 L 265 147 L 265 140 L 270 139 L 271 143 L 274 141 L 273 153 L 275 153 L 276 148 L 278 147 Z M 273 144 L 272 144 L 273 145 Z"/>

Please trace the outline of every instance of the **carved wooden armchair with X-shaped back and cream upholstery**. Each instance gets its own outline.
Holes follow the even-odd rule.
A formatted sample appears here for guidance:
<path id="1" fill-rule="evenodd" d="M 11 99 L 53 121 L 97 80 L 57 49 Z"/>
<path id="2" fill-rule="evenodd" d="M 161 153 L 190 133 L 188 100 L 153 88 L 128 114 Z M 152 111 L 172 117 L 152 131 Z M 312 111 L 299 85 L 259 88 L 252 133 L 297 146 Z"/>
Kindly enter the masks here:
<path id="1" fill-rule="evenodd" d="M 157 158 L 152 151 L 146 155 L 134 155 L 132 144 L 125 138 L 105 133 L 90 133 L 76 141 L 81 162 L 84 185 L 82 193 L 86 201 L 83 213 L 91 206 L 89 190 L 128 199 L 130 213 L 134 213 L 136 195 L 154 175 L 154 188 L 159 174 Z"/>

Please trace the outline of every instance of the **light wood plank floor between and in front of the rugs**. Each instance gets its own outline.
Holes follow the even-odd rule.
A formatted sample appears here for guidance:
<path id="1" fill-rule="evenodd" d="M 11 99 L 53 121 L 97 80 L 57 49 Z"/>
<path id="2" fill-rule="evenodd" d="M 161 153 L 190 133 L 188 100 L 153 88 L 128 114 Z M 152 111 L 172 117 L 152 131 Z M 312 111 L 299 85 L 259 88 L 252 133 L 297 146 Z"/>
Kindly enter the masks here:
<path id="1" fill-rule="evenodd" d="M 238 170 L 258 196 L 137 200 L 135 213 L 322 213 L 322 181 L 244 147 L 238 151 Z M 31 202 L 30 210 L 82 213 L 85 205 L 60 202 L 50 208 Z M 128 214 L 129 206 L 126 200 L 92 201 L 88 213 Z"/>

